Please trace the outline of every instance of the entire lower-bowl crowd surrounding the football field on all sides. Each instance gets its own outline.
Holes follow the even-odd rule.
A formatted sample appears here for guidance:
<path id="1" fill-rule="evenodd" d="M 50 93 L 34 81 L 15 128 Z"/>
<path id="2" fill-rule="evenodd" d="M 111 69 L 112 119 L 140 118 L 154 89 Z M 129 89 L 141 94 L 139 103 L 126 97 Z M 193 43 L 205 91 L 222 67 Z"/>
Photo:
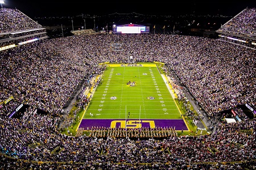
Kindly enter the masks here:
<path id="1" fill-rule="evenodd" d="M 15 10 L 10 16 L 12 12 Z M 122 42 L 122 50 L 112 50 L 110 44 L 115 42 Z M 1 168 L 255 168 L 255 120 L 219 123 L 213 135 L 193 137 L 177 137 L 172 129 L 160 129 L 160 135 L 155 129 L 96 129 L 90 137 L 68 136 L 57 130 L 63 108 L 77 87 L 104 71 L 98 63 L 164 62 L 205 111 L 217 117 L 237 105 L 255 107 L 254 56 L 255 49 L 220 40 L 158 34 L 61 37 L 3 50 Z M 20 119 L 7 118 L 16 103 L 30 107 Z M 37 113 L 39 109 L 47 114 Z M 149 139 L 143 140 L 145 137 Z M 60 151 L 53 152 L 56 148 Z"/>

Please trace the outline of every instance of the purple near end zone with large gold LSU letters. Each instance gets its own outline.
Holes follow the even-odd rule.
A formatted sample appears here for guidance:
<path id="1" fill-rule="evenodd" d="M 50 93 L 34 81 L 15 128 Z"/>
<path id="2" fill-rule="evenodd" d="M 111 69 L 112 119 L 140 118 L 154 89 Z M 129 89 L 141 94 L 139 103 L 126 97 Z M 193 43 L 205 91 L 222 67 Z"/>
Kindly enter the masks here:
<path id="1" fill-rule="evenodd" d="M 130 128 L 130 127 L 139 127 L 139 121 L 141 121 L 141 127 L 144 128 L 164 128 L 164 127 L 175 127 L 175 130 L 188 130 L 185 122 L 182 119 L 155 119 L 155 120 L 129 120 L 127 119 L 82 119 L 79 128 L 84 128 L 85 130 L 91 129 L 92 126 L 95 127 L 106 127 L 106 128 Z M 154 127 L 155 126 L 155 127 Z"/>

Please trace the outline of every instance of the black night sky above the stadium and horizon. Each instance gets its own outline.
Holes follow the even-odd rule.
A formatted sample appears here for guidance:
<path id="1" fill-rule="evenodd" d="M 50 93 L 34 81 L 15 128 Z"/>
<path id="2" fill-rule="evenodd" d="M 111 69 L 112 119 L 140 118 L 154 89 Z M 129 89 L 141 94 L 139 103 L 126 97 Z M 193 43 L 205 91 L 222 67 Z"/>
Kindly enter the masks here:
<path id="1" fill-rule="evenodd" d="M 35 16 L 76 16 L 79 14 L 108 15 L 115 12 L 127 14 L 174 15 L 174 14 L 222 14 L 234 16 L 244 8 L 255 8 L 254 1 L 158 1 L 158 0 L 119 0 L 119 1 L 94 1 L 94 0 L 3 0 L 5 8 L 17 8 L 24 14 Z"/>

